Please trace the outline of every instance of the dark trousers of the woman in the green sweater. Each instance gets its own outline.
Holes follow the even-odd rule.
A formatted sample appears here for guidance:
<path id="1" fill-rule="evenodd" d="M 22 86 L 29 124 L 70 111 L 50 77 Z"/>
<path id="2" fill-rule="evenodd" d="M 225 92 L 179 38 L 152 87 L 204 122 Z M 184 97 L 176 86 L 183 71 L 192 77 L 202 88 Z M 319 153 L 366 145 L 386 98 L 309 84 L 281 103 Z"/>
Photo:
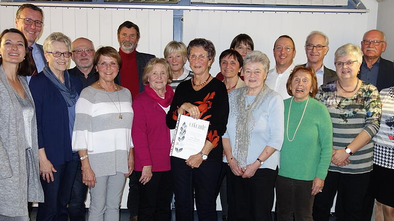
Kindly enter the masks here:
<path id="1" fill-rule="evenodd" d="M 313 181 L 295 180 L 278 175 L 275 190 L 277 193 L 278 221 L 313 221 L 312 193 Z"/>

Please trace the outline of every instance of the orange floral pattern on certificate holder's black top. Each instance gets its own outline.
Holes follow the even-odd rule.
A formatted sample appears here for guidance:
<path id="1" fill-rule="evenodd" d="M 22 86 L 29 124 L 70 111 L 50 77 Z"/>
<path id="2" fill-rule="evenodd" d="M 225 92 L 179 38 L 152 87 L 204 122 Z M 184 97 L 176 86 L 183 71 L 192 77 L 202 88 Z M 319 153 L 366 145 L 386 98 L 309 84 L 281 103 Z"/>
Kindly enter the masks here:
<path id="1" fill-rule="evenodd" d="M 200 111 L 200 118 L 202 120 L 208 120 L 209 118 L 212 117 L 212 115 L 206 115 L 208 112 L 208 109 L 212 107 L 212 99 L 215 97 L 215 92 L 208 93 L 207 96 L 204 97 L 202 101 L 196 101 L 194 102 L 194 105 L 196 105 L 199 108 Z M 178 120 L 178 108 L 177 107 L 174 112 L 172 113 L 172 119 L 173 120 Z M 186 116 L 190 116 L 189 113 L 185 114 Z M 209 123 L 211 125 L 211 123 Z M 212 143 L 213 148 L 218 146 L 218 142 L 220 137 L 218 136 L 218 131 L 217 130 L 208 130 L 207 134 L 207 139 Z"/>

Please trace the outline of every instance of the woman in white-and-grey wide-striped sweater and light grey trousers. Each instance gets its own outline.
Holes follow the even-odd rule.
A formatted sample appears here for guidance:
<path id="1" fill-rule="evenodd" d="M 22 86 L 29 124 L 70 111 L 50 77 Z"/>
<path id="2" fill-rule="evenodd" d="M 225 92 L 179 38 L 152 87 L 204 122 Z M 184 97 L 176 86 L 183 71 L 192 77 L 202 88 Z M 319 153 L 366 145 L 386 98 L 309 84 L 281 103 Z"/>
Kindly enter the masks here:
<path id="1" fill-rule="evenodd" d="M 99 80 L 86 87 L 76 103 L 72 149 L 82 163 L 82 182 L 89 187 L 89 220 L 119 220 L 126 178 L 134 168 L 128 89 L 115 84 L 122 61 L 114 48 L 94 55 Z"/>

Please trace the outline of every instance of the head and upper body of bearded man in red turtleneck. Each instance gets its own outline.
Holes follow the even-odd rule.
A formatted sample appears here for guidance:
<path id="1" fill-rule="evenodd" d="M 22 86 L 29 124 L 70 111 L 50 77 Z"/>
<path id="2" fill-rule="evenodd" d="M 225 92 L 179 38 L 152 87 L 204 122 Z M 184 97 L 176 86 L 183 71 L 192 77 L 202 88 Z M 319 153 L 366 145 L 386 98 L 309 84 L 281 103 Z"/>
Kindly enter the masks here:
<path id="1" fill-rule="evenodd" d="M 122 58 L 122 68 L 117 78 L 122 86 L 130 90 L 134 99 L 137 94 L 144 91 L 142 73 L 148 61 L 155 56 L 136 51 L 140 40 L 140 28 L 131 21 L 125 21 L 119 26 L 117 40 Z"/>

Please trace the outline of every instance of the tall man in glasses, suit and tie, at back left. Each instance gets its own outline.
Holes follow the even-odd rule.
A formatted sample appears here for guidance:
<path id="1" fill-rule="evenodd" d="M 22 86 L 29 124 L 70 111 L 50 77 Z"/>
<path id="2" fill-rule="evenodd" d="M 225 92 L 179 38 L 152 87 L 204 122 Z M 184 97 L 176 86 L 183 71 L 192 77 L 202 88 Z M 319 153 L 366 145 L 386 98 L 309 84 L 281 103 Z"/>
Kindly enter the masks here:
<path id="1" fill-rule="evenodd" d="M 16 11 L 15 27 L 25 35 L 36 67 L 31 75 L 40 73 L 45 66 L 43 46 L 36 43 L 44 25 L 43 17 L 43 10 L 32 4 L 23 4 Z M 27 82 L 30 78 L 27 76 Z"/>

